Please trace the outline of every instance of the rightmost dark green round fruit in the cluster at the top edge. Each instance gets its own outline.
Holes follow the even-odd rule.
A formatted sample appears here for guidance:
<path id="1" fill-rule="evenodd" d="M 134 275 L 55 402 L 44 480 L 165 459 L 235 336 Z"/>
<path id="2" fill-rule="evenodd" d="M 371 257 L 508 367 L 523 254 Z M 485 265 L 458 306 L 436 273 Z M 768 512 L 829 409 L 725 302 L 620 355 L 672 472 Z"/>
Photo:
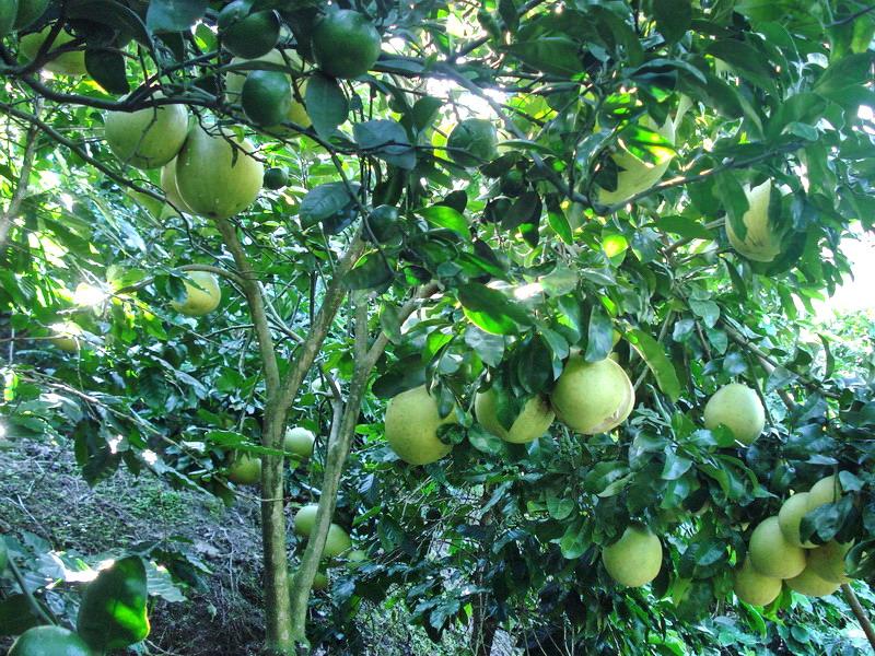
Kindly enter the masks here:
<path id="1" fill-rule="evenodd" d="M 313 56 L 332 78 L 358 78 L 380 59 L 380 33 L 364 14 L 341 9 L 326 14 L 313 31 Z"/>

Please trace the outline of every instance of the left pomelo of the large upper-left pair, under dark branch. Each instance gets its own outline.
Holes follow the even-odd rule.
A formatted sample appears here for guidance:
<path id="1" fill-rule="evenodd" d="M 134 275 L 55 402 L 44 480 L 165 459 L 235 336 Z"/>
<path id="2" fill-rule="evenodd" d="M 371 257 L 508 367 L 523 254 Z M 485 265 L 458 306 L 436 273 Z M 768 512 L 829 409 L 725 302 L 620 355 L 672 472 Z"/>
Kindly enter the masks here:
<path id="1" fill-rule="evenodd" d="M 105 130 L 106 142 L 116 157 L 137 168 L 158 168 L 183 148 L 188 133 L 188 112 L 184 105 L 108 112 Z"/>

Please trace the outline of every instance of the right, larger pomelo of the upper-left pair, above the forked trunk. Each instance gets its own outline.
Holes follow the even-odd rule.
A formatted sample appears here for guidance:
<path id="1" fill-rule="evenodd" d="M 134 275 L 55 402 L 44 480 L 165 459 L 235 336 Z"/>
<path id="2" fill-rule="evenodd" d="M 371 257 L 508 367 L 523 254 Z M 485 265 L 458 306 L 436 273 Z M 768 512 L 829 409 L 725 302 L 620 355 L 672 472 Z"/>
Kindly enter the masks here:
<path id="1" fill-rule="evenodd" d="M 255 147 L 231 133 L 195 126 L 176 157 L 176 188 L 195 213 L 229 219 L 248 208 L 261 190 L 265 167 Z"/>

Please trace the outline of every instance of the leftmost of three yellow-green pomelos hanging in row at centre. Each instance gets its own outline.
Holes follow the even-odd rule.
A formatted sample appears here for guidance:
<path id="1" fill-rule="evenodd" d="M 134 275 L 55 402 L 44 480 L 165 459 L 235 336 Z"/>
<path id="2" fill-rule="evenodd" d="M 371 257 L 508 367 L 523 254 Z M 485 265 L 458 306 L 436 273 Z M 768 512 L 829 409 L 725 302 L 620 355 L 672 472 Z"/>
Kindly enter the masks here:
<path id="1" fill-rule="evenodd" d="M 402 391 L 386 408 L 386 441 L 398 457 L 410 465 L 428 465 L 453 448 L 438 437 L 438 429 L 457 423 L 454 412 L 443 419 L 438 401 L 424 385 Z"/>

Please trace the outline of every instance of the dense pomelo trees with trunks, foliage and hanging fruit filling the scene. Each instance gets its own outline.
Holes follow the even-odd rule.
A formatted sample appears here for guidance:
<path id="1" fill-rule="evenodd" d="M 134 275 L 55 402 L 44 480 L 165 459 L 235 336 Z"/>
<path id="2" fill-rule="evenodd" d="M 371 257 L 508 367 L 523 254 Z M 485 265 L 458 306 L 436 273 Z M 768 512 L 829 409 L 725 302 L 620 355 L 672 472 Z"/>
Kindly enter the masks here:
<path id="1" fill-rule="evenodd" d="M 853 0 L 0 0 L 5 440 L 257 494 L 272 653 L 387 598 L 477 654 L 718 653 L 715 613 L 817 653 L 793 613 L 840 588 L 871 631 L 871 372 L 801 326 L 873 227 L 874 34 Z M 145 637 L 161 553 L 65 621 L 8 541 L 19 625 L 63 625 L 13 653 Z"/>

